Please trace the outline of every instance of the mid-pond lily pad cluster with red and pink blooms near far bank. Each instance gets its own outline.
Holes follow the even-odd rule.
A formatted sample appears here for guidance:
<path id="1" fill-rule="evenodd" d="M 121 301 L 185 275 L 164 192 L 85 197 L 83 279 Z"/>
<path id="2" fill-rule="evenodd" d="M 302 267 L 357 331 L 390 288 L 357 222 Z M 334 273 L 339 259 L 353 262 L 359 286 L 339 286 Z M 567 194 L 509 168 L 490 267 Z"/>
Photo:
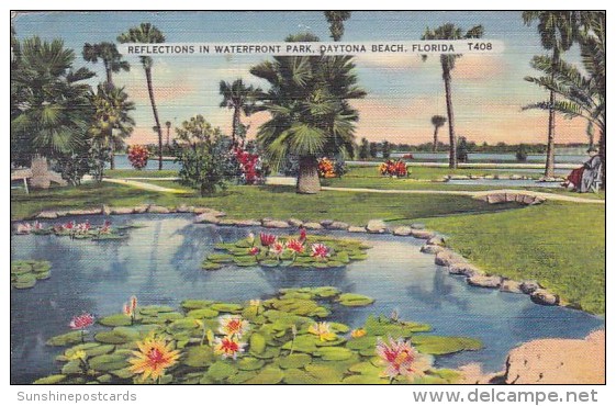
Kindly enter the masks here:
<path id="1" fill-rule="evenodd" d="M 217 244 L 215 248 L 224 253 L 208 256 L 203 269 L 213 271 L 225 263 L 239 267 L 338 268 L 366 259 L 366 250 L 370 247 L 352 239 L 306 236 L 302 230 L 299 236 L 285 237 L 261 233 L 256 238 L 250 233 L 247 238 Z"/>

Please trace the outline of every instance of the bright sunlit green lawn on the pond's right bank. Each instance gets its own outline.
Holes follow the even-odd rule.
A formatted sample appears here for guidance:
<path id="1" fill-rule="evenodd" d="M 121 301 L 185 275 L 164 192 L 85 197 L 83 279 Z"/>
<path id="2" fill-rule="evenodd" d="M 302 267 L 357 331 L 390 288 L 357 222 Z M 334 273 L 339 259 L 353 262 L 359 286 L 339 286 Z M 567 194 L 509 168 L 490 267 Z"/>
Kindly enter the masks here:
<path id="1" fill-rule="evenodd" d="M 605 313 L 605 206 L 547 202 L 501 213 L 426 218 L 484 270 L 536 279 L 568 303 Z"/>

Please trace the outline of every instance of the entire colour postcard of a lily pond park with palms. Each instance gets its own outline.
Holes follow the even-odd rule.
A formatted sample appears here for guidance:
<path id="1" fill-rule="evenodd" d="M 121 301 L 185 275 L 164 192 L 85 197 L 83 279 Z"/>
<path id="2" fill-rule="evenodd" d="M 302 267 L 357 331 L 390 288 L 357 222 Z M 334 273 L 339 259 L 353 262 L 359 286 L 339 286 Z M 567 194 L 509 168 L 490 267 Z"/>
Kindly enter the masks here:
<path id="1" fill-rule="evenodd" d="M 10 41 L 11 384 L 605 383 L 606 12 Z"/>

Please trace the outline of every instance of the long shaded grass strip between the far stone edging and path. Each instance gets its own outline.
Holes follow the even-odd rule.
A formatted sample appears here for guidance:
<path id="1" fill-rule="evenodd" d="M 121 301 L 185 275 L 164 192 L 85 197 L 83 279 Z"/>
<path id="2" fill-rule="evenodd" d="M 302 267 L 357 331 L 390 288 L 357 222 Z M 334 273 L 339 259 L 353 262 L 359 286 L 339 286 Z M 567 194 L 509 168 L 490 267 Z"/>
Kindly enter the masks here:
<path id="1" fill-rule="evenodd" d="M 152 183 L 177 187 L 169 181 Z M 332 218 L 365 225 L 371 218 L 391 222 L 458 213 L 500 211 L 517 205 L 491 205 L 466 196 L 404 195 L 348 192 L 322 192 L 300 195 L 292 187 L 229 187 L 213 196 L 201 198 L 194 192 L 170 194 L 137 190 L 121 184 L 85 184 L 80 188 L 56 188 L 32 191 L 30 195 L 13 191 L 11 218 L 24 218 L 43 210 L 69 210 L 100 206 L 131 206 L 154 203 L 165 206 L 179 204 L 223 210 L 233 218 Z"/>

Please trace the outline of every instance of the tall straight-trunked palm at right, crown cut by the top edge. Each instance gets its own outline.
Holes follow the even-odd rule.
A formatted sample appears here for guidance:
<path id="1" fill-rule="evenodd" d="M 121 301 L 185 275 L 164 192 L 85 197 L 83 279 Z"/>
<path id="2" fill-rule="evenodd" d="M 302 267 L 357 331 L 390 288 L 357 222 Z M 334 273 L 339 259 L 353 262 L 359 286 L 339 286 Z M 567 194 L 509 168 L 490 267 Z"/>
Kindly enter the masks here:
<path id="1" fill-rule="evenodd" d="M 551 64 L 556 67 L 560 55 L 571 48 L 574 41 L 575 16 L 572 11 L 525 11 L 522 19 L 526 25 L 538 21 L 537 30 L 544 48 L 551 50 Z M 556 104 L 556 93 L 550 91 L 550 106 Z M 548 150 L 546 170 L 548 178 L 555 176 L 555 109 L 548 109 Z"/>

